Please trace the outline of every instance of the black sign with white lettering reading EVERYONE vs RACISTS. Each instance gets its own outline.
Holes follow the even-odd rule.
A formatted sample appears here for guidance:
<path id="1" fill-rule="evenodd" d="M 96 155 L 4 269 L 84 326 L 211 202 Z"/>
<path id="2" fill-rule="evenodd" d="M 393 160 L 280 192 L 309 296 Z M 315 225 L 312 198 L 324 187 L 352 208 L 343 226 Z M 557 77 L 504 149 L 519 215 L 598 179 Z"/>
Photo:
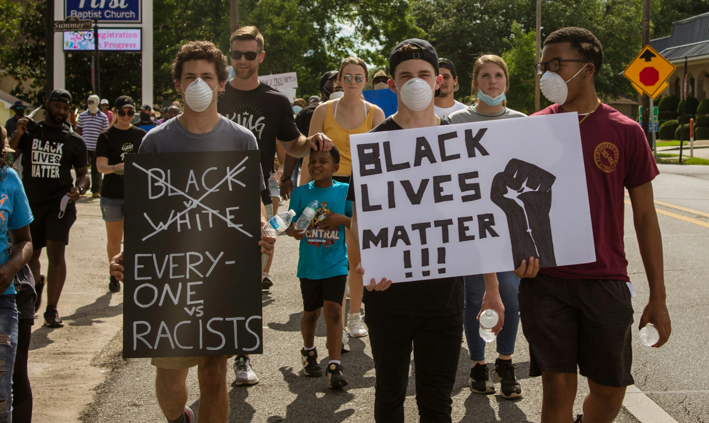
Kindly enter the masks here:
<path id="1" fill-rule="evenodd" d="M 125 156 L 123 357 L 262 352 L 259 151 Z"/>

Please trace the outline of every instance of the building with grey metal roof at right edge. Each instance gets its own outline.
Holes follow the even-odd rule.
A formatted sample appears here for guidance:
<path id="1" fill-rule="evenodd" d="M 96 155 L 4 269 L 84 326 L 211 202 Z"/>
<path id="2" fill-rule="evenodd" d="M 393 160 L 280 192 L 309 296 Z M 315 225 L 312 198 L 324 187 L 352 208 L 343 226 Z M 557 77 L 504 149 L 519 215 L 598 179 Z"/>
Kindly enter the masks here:
<path id="1" fill-rule="evenodd" d="M 672 23 L 672 33 L 650 40 L 650 46 L 677 66 L 664 93 L 682 97 L 684 62 L 687 62 L 687 95 L 709 98 L 709 12 Z"/>

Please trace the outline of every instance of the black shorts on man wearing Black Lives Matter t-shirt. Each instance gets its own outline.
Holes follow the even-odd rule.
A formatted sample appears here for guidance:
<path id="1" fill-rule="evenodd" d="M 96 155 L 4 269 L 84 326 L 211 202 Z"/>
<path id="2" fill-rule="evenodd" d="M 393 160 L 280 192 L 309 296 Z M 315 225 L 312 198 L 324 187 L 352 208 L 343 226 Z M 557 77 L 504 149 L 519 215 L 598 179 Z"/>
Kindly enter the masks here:
<path id="1" fill-rule="evenodd" d="M 47 241 L 62 241 L 69 244 L 69 229 L 77 221 L 77 205 L 69 202 L 64 211 L 64 216 L 59 218 L 60 200 L 34 206 L 30 204 L 35 220 L 30 224 L 32 235 L 32 248 L 45 248 Z"/>

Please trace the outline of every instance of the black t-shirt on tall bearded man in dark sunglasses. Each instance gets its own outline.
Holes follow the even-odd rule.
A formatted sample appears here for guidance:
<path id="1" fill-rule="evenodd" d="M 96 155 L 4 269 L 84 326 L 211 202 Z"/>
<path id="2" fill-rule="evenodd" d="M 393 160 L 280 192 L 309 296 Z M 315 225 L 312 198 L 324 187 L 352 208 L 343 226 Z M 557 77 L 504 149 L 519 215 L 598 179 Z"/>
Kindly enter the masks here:
<path id="1" fill-rule="evenodd" d="M 218 100 L 217 110 L 220 115 L 254 133 L 261 151 L 261 170 L 267 187 L 261 192 L 261 198 L 264 204 L 271 204 L 273 200 L 268 189 L 268 178 L 276 156 L 276 139 L 288 142 L 301 135 L 293 120 L 291 102 L 284 93 L 265 83 L 259 83 L 253 90 L 242 91 L 229 82 L 226 83 L 224 95 Z"/>

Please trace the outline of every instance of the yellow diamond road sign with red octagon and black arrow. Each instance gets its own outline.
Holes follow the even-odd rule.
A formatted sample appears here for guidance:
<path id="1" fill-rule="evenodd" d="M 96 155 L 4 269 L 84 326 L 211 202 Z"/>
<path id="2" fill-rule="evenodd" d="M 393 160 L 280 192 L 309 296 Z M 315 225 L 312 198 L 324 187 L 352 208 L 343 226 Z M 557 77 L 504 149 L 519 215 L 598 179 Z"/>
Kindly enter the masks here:
<path id="1" fill-rule="evenodd" d="M 640 88 L 645 94 L 654 95 L 675 69 L 674 64 L 646 45 L 625 68 L 623 75 L 630 79 L 635 89 Z"/>

